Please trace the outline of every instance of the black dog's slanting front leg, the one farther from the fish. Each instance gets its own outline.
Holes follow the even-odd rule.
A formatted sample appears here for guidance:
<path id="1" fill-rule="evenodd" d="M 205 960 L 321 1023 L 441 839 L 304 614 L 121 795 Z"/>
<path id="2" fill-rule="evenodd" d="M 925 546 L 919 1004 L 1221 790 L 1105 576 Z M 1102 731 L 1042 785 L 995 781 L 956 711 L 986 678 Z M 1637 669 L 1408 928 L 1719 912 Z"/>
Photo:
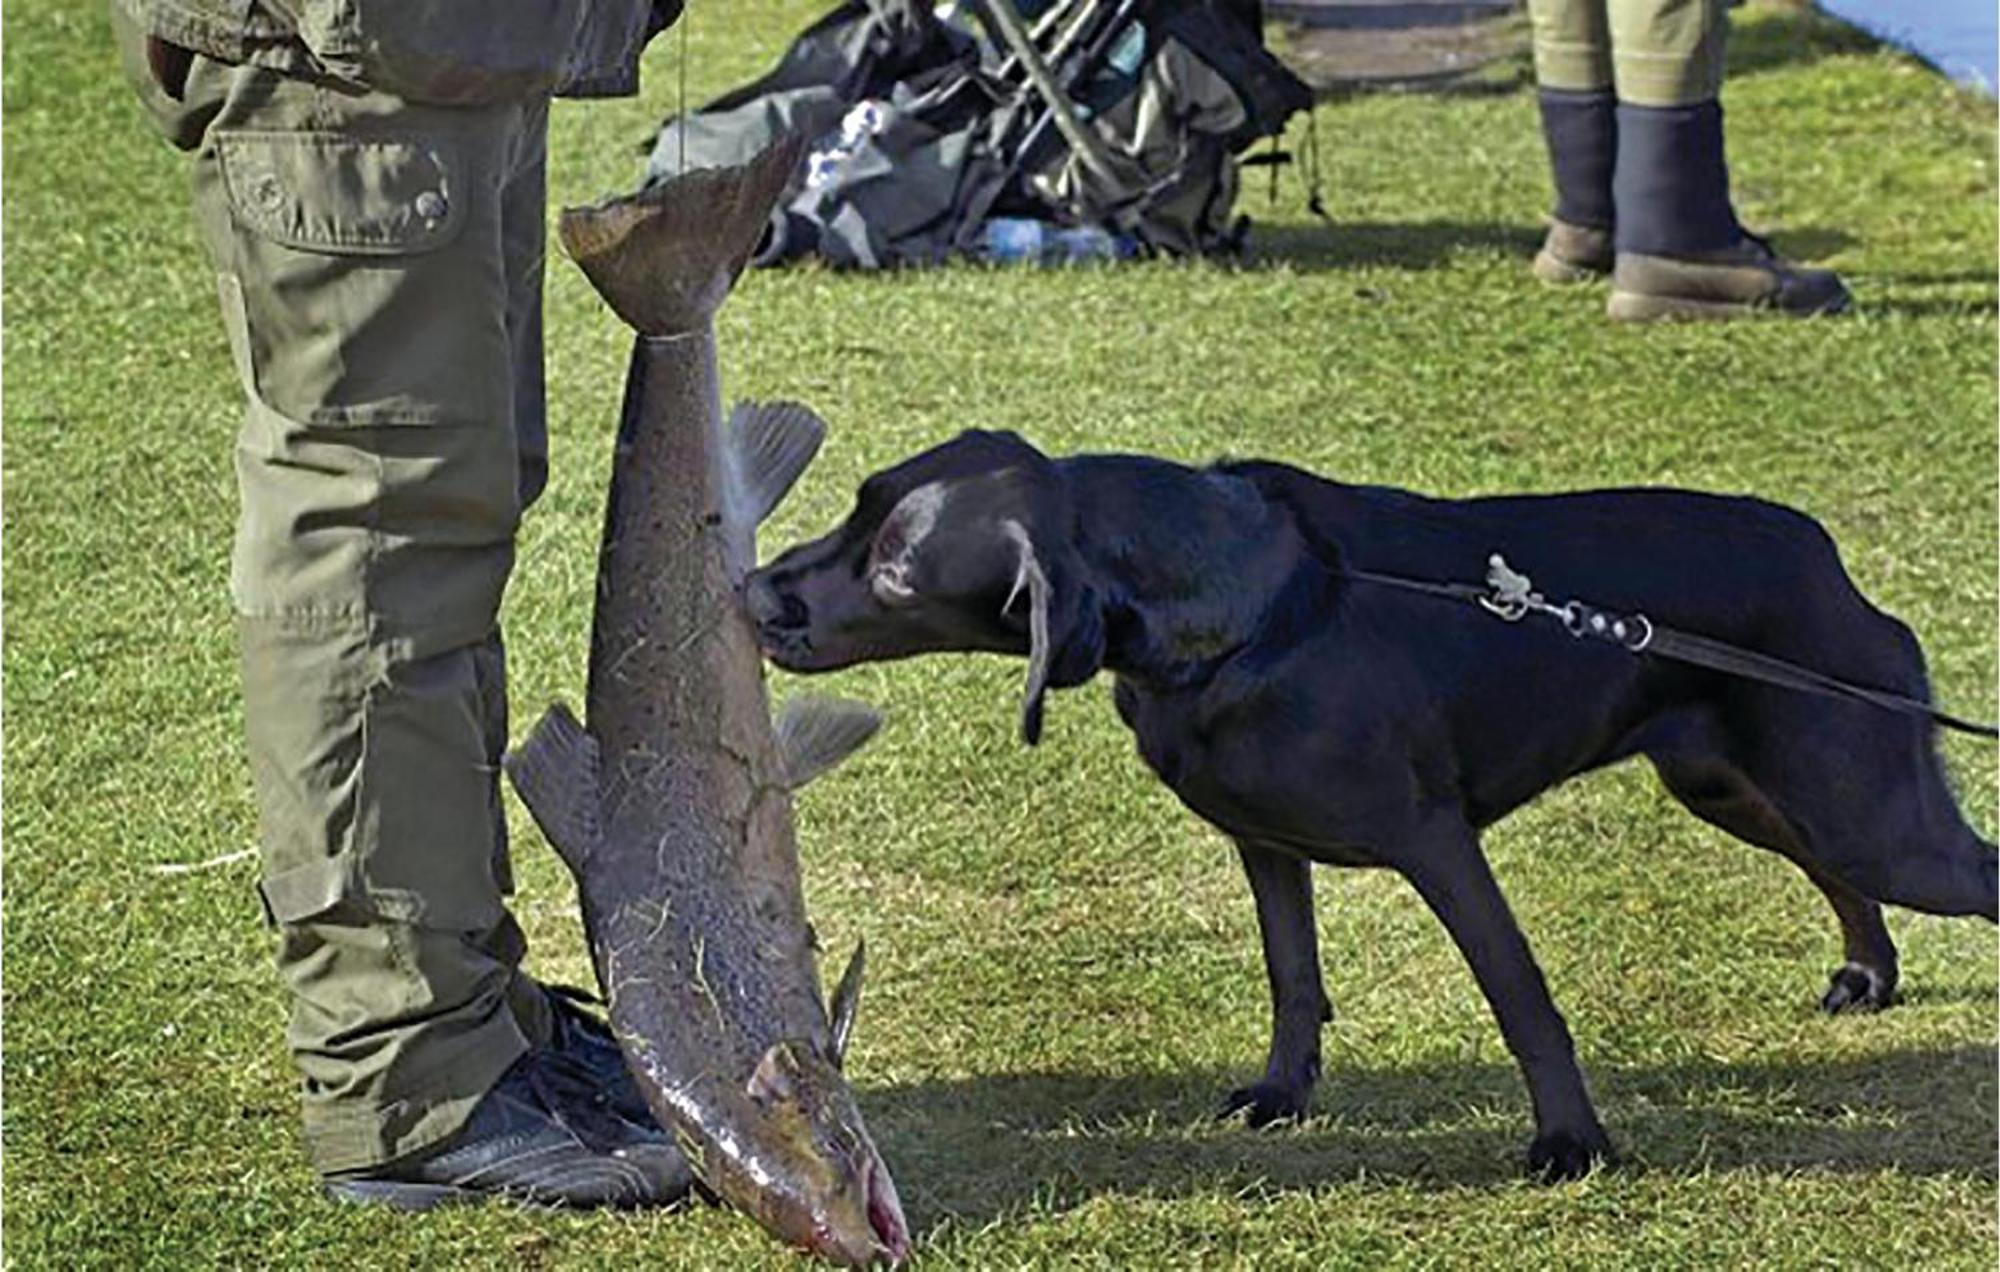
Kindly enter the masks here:
<path id="1" fill-rule="evenodd" d="M 1582 1176 L 1614 1160 L 1610 1138 L 1576 1068 L 1570 1028 L 1548 996 L 1528 938 L 1514 924 L 1478 836 L 1456 814 L 1434 816 L 1416 836 L 1380 852 L 1446 926 L 1500 1020 L 1500 1034 L 1528 1080 L 1534 1142 L 1528 1172 L 1542 1180 Z"/>

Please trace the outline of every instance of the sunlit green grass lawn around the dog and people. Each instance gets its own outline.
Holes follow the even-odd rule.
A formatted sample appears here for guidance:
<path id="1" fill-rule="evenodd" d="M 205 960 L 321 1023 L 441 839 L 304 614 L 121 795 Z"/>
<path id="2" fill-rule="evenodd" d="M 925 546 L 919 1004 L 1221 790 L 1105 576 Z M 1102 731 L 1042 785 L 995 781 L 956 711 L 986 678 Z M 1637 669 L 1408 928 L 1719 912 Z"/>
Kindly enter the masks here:
<path id="1" fill-rule="evenodd" d="M 790 1266 L 722 1212 L 400 1218 L 320 1200 L 258 924 L 226 560 L 236 384 L 182 160 L 118 80 L 102 4 L 6 24 L 6 1236 L 40 1266 Z M 696 0 L 700 100 L 810 0 Z M 1800 506 L 1992 716 L 1992 102 L 1792 8 L 1742 12 L 1728 86 L 1746 220 L 1842 270 L 1852 318 L 1614 330 L 1526 258 L 1534 98 L 1320 108 L 1332 224 L 1294 180 L 1248 268 L 752 276 L 736 394 L 834 432 L 766 544 L 952 432 L 1050 452 L 1272 456 L 1438 494 L 1660 482 Z M 628 186 L 638 100 L 562 104 L 556 202 Z M 1302 132 L 1302 130 L 1300 130 Z M 1298 138 L 1294 138 L 1298 140 Z M 522 726 L 580 700 L 626 334 L 552 262 L 556 476 L 508 596 Z M 1650 772 L 1580 780 L 1488 836 L 1576 1034 L 1618 1172 L 1516 1178 L 1528 1100 L 1414 892 L 1320 876 L 1336 1020 L 1318 1116 L 1218 1126 L 1262 1064 L 1234 852 L 1138 762 L 1104 682 L 1014 740 L 1020 664 L 864 668 L 878 744 L 802 798 L 814 918 L 870 944 L 852 1074 L 930 1266 L 1976 1266 L 1996 1258 L 1994 930 L 1894 914 L 1906 1004 L 1822 1018 L 1820 896 Z M 776 686 L 782 690 L 784 686 Z M 1560 684 L 1522 686 L 1562 692 Z M 1994 832 L 1994 748 L 1944 742 Z M 584 980 L 568 878 L 526 818 L 534 966 Z"/>

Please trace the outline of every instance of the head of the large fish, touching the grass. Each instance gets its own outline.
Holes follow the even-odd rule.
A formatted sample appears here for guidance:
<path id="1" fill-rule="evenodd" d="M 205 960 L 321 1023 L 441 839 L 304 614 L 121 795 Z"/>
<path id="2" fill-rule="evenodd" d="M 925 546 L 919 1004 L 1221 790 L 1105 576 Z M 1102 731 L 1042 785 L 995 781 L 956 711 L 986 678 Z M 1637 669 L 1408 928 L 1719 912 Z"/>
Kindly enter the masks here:
<path id="1" fill-rule="evenodd" d="M 730 1136 L 736 1152 L 714 1162 L 710 1186 L 836 1264 L 904 1262 L 910 1224 L 840 1066 L 808 1042 L 778 1042 L 742 1094 L 746 1132 Z"/>

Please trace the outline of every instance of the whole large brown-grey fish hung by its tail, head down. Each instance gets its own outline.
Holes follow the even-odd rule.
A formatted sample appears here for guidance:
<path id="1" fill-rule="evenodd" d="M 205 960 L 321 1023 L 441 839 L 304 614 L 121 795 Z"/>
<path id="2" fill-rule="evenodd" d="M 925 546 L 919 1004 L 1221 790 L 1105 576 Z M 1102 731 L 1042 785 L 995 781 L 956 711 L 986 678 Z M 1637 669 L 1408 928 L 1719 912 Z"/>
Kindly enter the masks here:
<path id="1" fill-rule="evenodd" d="M 556 704 L 508 756 L 576 874 L 626 1062 L 696 1176 L 780 1238 L 900 1262 L 908 1224 L 840 1060 L 860 952 L 828 1018 L 792 840 L 792 788 L 874 732 L 808 702 L 772 728 L 740 586 L 756 524 L 818 450 L 794 404 L 722 420 L 712 318 L 796 142 L 562 214 L 636 332 L 598 558 L 588 728 Z"/>

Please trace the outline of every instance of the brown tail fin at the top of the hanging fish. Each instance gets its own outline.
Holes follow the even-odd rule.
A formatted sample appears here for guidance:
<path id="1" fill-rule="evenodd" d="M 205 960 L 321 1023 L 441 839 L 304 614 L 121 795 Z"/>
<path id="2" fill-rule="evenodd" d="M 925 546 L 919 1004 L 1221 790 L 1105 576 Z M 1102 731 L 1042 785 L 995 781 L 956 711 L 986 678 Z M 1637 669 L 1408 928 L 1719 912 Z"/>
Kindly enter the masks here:
<path id="1" fill-rule="evenodd" d="M 642 336 L 692 332 L 730 294 L 802 156 L 804 138 L 788 134 L 748 164 L 564 208 L 556 232 L 628 326 Z"/>

